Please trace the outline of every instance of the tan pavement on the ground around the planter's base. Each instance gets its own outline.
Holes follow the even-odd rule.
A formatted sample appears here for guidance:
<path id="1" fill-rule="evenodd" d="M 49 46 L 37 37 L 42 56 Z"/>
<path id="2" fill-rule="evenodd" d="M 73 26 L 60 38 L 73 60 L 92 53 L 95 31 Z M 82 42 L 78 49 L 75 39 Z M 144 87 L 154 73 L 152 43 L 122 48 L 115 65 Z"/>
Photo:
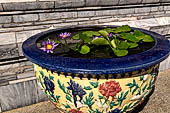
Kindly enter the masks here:
<path id="1" fill-rule="evenodd" d="M 170 112 L 170 69 L 159 73 L 156 87 L 149 101 L 139 112 L 134 113 L 169 113 Z M 142 106 L 143 107 L 143 106 Z M 142 108 L 141 107 L 141 108 Z M 140 108 L 140 109 L 141 109 Z M 50 102 L 45 101 L 31 106 L 14 109 L 4 113 L 60 113 Z"/>

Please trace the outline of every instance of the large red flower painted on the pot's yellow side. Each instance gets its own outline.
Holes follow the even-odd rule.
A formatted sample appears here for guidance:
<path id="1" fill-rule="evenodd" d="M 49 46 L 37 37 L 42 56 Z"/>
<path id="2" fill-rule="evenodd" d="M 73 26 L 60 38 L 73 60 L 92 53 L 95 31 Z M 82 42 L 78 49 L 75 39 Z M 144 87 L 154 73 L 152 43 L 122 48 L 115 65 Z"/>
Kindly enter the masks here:
<path id="1" fill-rule="evenodd" d="M 120 84 L 116 81 L 107 81 L 105 83 L 100 84 L 99 86 L 99 92 L 105 96 L 106 99 L 109 98 L 109 96 L 112 97 L 112 101 L 114 100 L 114 97 L 117 93 L 121 91 Z"/>

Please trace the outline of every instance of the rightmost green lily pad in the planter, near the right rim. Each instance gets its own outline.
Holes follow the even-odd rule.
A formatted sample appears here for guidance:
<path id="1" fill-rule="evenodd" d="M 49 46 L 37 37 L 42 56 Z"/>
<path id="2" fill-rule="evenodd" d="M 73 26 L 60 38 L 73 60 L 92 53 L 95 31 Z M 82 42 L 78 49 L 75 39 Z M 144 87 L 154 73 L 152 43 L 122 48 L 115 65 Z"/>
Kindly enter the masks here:
<path id="1" fill-rule="evenodd" d="M 154 39 L 150 35 L 144 34 L 141 31 L 135 30 L 134 35 L 143 42 L 154 42 Z"/>

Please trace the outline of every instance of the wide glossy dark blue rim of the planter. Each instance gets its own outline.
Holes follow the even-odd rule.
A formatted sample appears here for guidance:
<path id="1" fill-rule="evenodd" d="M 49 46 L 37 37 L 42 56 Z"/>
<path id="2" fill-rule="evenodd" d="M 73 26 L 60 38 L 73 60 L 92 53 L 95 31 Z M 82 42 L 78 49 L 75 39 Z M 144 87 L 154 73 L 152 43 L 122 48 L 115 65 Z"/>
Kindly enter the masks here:
<path id="1" fill-rule="evenodd" d="M 155 46 L 151 49 L 130 56 L 121 58 L 106 58 L 106 59 L 81 59 L 81 58 L 69 58 L 62 56 L 51 56 L 45 52 L 42 52 L 36 42 L 39 38 L 46 36 L 50 33 L 54 33 L 59 30 L 67 30 L 68 28 L 82 28 L 90 26 L 75 26 L 64 27 L 60 29 L 48 30 L 36 34 L 27 39 L 23 45 L 22 50 L 24 55 L 31 62 L 38 64 L 39 66 L 59 72 L 66 73 L 78 73 L 78 74 L 119 74 L 137 71 L 141 69 L 149 68 L 153 65 L 159 64 L 161 61 L 169 56 L 170 42 L 164 36 L 144 29 L 133 28 L 140 30 L 146 34 L 155 38 Z M 92 27 L 96 27 L 92 26 Z M 115 26 L 97 26 L 97 27 L 115 27 Z"/>

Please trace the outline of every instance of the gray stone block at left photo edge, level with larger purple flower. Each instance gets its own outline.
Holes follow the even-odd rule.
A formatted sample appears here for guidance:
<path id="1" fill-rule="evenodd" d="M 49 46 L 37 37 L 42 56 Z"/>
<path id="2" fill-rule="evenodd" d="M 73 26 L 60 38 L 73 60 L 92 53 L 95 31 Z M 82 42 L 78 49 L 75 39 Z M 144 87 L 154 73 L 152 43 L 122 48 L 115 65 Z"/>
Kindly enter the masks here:
<path id="1" fill-rule="evenodd" d="M 0 60 L 17 58 L 17 57 L 19 57 L 19 55 L 18 55 L 18 49 L 16 44 L 8 44 L 8 45 L 0 46 Z"/>

